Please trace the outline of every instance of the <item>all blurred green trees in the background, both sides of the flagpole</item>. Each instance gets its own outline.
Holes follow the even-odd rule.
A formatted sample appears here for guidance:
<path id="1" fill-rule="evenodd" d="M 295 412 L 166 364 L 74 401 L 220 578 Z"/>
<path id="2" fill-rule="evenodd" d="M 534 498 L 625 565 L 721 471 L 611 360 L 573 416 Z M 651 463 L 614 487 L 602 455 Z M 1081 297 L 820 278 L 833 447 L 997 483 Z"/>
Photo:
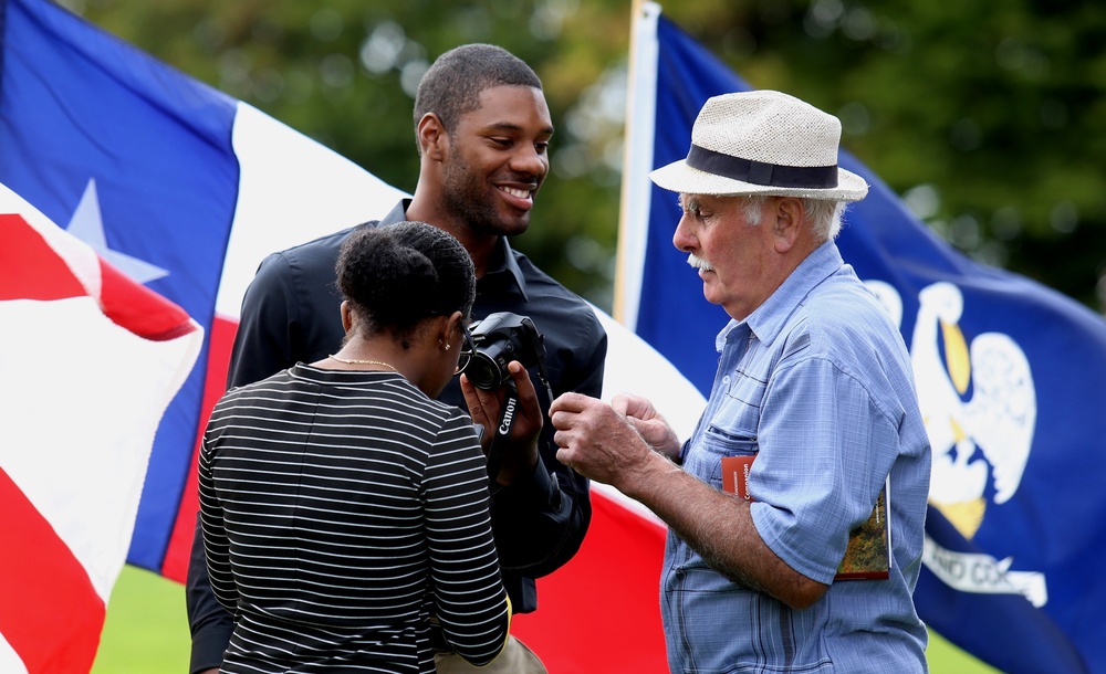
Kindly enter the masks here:
<path id="1" fill-rule="evenodd" d="M 493 42 L 546 87 L 553 175 L 517 245 L 609 309 L 628 0 L 70 0 L 77 12 L 414 189 L 422 71 Z M 844 146 L 950 243 L 1106 307 L 1106 6 L 696 0 L 666 13 Z M 372 215 L 372 214 L 369 214 Z"/>

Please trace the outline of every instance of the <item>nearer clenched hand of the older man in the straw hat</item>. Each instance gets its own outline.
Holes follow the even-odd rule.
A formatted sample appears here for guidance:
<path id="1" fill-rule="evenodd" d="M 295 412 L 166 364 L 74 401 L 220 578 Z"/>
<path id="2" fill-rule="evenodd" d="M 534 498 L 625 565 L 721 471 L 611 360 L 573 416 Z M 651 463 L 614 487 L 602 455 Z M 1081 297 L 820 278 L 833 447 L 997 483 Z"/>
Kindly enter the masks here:
<path id="1" fill-rule="evenodd" d="M 656 418 L 654 413 L 645 423 Z M 643 466 L 653 454 L 653 447 L 635 426 L 643 420 L 630 420 L 602 400 L 565 393 L 550 407 L 550 420 L 556 429 L 553 440 L 561 447 L 557 461 L 585 477 L 623 492 L 627 491 L 627 482 L 634 478 L 634 470 Z"/>

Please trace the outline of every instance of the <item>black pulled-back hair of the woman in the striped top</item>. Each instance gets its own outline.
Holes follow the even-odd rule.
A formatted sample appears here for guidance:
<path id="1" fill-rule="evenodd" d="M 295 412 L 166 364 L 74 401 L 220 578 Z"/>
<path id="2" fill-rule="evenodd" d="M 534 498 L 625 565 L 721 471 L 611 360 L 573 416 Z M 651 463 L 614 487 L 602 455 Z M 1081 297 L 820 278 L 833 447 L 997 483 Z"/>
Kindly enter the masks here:
<path id="1" fill-rule="evenodd" d="M 405 348 L 425 319 L 460 312 L 467 323 L 472 314 L 472 257 L 452 234 L 425 222 L 354 230 L 335 272 L 363 333 L 386 330 Z"/>

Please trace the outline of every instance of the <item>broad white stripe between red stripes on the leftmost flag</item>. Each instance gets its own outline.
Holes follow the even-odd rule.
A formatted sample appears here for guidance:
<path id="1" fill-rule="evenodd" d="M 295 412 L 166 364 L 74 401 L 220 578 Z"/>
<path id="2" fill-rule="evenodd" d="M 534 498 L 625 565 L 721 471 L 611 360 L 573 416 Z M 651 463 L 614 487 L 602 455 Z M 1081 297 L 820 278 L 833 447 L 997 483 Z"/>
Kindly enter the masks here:
<path id="1" fill-rule="evenodd" d="M 143 339 L 88 296 L 4 302 L 0 317 L 20 326 L 0 338 L 0 350 L 20 355 L 3 367 L 13 390 L 0 464 L 106 601 L 131 544 L 154 432 L 182 379 L 178 364 L 191 365 L 198 340 Z"/>

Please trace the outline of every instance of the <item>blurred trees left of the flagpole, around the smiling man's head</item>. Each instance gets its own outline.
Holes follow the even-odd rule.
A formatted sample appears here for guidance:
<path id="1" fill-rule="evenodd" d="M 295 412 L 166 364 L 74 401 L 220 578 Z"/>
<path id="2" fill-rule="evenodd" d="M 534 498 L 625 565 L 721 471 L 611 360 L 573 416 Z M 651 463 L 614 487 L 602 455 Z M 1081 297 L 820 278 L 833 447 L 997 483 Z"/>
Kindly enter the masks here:
<path id="1" fill-rule="evenodd" d="M 553 173 L 515 245 L 609 308 L 630 18 L 623 0 L 66 4 L 408 191 L 418 176 L 411 108 L 422 72 L 461 43 L 507 48 L 542 77 L 557 128 Z"/>

